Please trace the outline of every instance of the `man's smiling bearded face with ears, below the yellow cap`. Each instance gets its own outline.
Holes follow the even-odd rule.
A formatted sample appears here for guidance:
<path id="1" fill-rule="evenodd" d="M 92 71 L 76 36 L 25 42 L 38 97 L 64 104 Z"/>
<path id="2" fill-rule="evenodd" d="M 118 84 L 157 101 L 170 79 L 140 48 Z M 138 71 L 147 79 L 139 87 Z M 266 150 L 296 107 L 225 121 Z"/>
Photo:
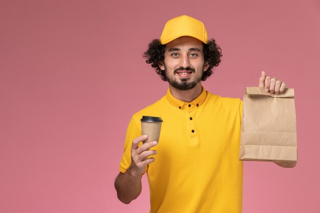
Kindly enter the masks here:
<path id="1" fill-rule="evenodd" d="M 179 37 L 166 44 L 165 60 L 159 68 L 165 70 L 168 82 L 176 89 L 188 90 L 201 84 L 204 62 L 202 42 L 193 37 Z"/>

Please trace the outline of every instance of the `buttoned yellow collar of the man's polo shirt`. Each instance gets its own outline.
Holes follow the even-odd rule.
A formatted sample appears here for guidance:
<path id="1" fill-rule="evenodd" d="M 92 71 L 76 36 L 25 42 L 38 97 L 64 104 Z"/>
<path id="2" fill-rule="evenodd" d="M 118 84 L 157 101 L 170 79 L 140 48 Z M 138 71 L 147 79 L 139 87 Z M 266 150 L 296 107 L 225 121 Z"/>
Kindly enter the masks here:
<path id="1" fill-rule="evenodd" d="M 205 98 L 207 98 L 207 91 L 204 90 L 203 86 L 202 86 L 202 91 L 199 94 L 199 96 L 197 98 L 195 98 L 193 101 L 191 102 L 184 102 L 184 101 L 180 101 L 176 98 L 174 98 L 170 92 L 170 89 L 168 88 L 167 94 L 166 94 L 166 99 L 168 100 L 168 102 L 174 106 L 177 107 L 179 109 L 183 109 L 184 106 L 188 106 L 188 105 L 195 105 L 196 107 L 201 106 L 201 104 L 203 104 Z M 190 106 L 189 106 L 190 107 Z"/>

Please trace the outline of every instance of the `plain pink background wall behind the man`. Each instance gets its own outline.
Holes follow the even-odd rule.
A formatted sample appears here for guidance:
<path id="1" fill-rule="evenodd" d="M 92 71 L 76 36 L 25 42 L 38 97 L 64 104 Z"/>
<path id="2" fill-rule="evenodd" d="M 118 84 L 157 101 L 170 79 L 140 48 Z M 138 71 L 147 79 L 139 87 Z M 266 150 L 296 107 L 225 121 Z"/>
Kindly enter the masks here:
<path id="1" fill-rule="evenodd" d="M 141 57 L 165 22 L 202 20 L 223 51 L 204 86 L 241 98 L 261 70 L 295 89 L 299 162 L 244 162 L 243 211 L 320 212 L 320 2 L 0 3 L 0 212 L 148 212 L 117 199 L 125 131 L 168 87 Z M 181 195 L 183 196 L 183 195 Z"/>

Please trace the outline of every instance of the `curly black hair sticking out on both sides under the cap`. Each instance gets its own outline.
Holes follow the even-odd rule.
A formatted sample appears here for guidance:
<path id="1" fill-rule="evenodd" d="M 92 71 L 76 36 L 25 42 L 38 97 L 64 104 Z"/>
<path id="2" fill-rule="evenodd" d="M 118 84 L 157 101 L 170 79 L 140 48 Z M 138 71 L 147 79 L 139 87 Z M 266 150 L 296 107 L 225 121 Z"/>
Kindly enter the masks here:
<path id="1" fill-rule="evenodd" d="M 221 62 L 220 58 L 221 48 L 214 39 L 209 40 L 207 43 L 202 43 L 204 61 L 209 63 L 209 68 L 206 72 L 203 72 L 202 81 L 207 80 L 207 77 L 211 76 L 212 68 L 218 66 Z M 158 66 L 160 62 L 165 60 L 165 48 L 166 45 L 162 44 L 159 39 L 153 39 L 149 45 L 148 50 L 144 52 L 143 57 L 146 58 L 146 62 L 151 64 L 155 69 L 155 72 L 161 76 L 161 79 L 167 81 L 165 70 L 161 70 Z"/>

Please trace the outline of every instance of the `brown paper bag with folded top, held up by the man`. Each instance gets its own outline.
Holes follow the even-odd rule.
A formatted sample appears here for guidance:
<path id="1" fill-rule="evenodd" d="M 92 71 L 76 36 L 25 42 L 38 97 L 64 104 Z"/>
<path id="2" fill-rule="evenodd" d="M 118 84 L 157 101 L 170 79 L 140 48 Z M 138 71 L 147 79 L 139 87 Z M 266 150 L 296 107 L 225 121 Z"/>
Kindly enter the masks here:
<path id="1" fill-rule="evenodd" d="M 240 160 L 297 161 L 294 90 L 281 94 L 246 87 L 240 139 Z"/>

